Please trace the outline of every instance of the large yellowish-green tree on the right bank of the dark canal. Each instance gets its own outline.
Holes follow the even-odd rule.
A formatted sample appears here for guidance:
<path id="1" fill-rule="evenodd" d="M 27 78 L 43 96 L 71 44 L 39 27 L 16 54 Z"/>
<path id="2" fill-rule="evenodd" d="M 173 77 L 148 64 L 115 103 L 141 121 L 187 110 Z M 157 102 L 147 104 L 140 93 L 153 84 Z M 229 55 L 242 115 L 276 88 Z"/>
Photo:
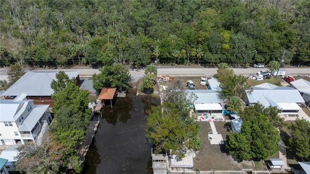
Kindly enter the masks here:
<path id="1" fill-rule="evenodd" d="M 194 97 L 187 97 L 185 92 L 171 92 L 169 98 L 174 98 L 176 103 L 170 100 L 161 106 L 153 107 L 147 119 L 146 136 L 149 142 L 155 145 L 155 151 L 168 152 L 184 158 L 184 148 L 197 150 L 201 146 L 201 140 L 197 136 L 199 125 L 195 121 L 196 116 L 189 116 L 190 104 Z M 178 97 L 177 97 L 178 96 Z M 185 100 L 179 100 L 179 99 Z"/>

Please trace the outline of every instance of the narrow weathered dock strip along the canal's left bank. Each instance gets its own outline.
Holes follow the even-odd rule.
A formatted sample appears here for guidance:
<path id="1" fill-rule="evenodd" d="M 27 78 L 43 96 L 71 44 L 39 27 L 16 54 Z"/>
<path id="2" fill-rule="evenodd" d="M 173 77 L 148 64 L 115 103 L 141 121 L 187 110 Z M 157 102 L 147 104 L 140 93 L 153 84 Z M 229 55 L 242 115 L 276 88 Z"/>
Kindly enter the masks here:
<path id="1" fill-rule="evenodd" d="M 86 154 L 89 150 L 89 147 L 91 143 L 93 142 L 93 137 L 95 136 L 98 126 L 99 126 L 99 121 L 90 121 L 89 122 L 89 127 L 87 129 L 87 133 L 85 138 L 79 142 L 78 144 L 78 157 L 80 160 L 85 161 Z"/>

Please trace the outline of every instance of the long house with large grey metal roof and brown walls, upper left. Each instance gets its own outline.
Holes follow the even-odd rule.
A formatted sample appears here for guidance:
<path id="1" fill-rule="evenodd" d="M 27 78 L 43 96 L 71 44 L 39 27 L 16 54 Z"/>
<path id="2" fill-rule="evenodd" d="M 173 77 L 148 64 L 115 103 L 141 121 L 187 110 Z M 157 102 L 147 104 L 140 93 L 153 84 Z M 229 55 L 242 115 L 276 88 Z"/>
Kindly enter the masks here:
<path id="1" fill-rule="evenodd" d="M 33 99 L 34 104 L 48 104 L 52 108 L 54 101 L 51 95 L 54 90 L 50 87 L 52 80 L 56 79 L 56 74 L 59 71 L 28 71 L 20 79 L 18 79 L 9 89 L 7 89 L 1 96 L 7 99 L 15 98 L 21 93 L 27 94 L 27 99 Z M 79 71 L 65 71 L 70 79 L 77 79 L 79 85 Z"/>

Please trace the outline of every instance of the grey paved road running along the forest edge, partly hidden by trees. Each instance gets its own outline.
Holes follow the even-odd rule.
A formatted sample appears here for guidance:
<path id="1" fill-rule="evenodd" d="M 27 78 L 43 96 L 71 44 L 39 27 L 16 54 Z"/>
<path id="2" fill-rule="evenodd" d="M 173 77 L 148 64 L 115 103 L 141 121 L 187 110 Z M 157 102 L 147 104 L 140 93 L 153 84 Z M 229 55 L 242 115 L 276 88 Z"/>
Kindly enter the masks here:
<path id="1" fill-rule="evenodd" d="M 98 69 L 92 68 L 80 68 L 80 69 L 57 69 L 64 71 L 79 71 L 80 76 L 92 76 L 94 73 L 99 73 Z M 258 71 L 266 70 L 266 68 L 233 68 L 233 71 L 237 75 L 242 74 L 255 74 Z M 0 79 L 7 79 L 7 71 L 8 69 L 1 68 L 0 69 Z M 55 70 L 25 70 L 25 71 L 55 71 Z M 158 76 L 160 75 L 171 75 L 171 76 L 207 76 L 211 77 L 215 73 L 217 73 L 217 68 L 176 68 L 176 67 L 159 67 L 157 69 Z M 310 74 L 309 68 L 285 68 L 287 75 L 304 75 Z M 134 80 L 139 80 L 140 77 L 143 77 L 144 70 L 143 69 L 132 69 L 129 71 Z"/>

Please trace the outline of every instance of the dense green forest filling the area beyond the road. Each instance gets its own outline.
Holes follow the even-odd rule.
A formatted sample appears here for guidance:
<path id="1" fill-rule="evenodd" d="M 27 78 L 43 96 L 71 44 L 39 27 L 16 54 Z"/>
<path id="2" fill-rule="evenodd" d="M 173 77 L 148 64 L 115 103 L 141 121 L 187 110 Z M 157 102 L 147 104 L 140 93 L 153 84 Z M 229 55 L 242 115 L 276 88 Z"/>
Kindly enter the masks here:
<path id="1" fill-rule="evenodd" d="M 308 0 L 1 0 L 0 66 L 310 63 Z"/>

